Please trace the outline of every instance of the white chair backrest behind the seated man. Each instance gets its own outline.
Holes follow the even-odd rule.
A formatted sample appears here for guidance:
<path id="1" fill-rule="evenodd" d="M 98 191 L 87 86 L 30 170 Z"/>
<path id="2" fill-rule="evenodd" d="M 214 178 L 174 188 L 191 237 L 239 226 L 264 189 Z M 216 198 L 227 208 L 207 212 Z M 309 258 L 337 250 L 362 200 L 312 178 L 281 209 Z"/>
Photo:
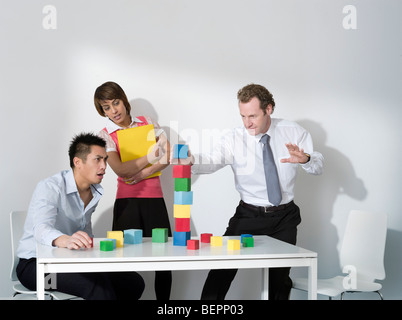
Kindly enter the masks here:
<path id="1" fill-rule="evenodd" d="M 17 273 L 15 271 L 19 258 L 17 257 L 18 243 L 24 233 L 24 223 L 26 218 L 26 211 L 11 211 L 10 213 L 10 233 L 11 233 L 11 281 L 17 281 Z"/>

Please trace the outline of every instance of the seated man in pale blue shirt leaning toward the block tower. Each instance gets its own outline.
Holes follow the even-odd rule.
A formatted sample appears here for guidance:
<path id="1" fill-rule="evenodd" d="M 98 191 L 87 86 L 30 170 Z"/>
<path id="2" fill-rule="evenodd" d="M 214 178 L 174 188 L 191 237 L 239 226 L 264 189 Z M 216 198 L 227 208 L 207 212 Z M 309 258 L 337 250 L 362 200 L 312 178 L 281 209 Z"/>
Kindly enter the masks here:
<path id="1" fill-rule="evenodd" d="M 106 143 L 80 134 L 70 144 L 70 170 L 40 181 L 33 193 L 17 255 L 17 276 L 36 290 L 36 243 L 81 249 L 91 247 L 91 216 L 103 194 Z M 88 300 L 139 299 L 144 280 L 136 272 L 58 273 L 52 289 Z"/>

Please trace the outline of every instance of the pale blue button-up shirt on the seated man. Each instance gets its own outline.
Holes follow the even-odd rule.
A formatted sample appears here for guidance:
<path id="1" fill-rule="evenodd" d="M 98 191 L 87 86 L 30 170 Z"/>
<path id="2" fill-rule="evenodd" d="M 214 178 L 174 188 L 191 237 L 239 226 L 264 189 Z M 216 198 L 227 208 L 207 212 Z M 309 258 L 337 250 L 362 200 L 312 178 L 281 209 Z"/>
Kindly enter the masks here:
<path id="1" fill-rule="evenodd" d="M 36 242 L 51 246 L 53 240 L 63 234 L 71 236 L 82 230 L 93 237 L 91 216 L 103 188 L 94 184 L 91 191 L 92 200 L 84 208 L 72 169 L 40 181 L 32 195 L 17 256 L 36 257 Z"/>

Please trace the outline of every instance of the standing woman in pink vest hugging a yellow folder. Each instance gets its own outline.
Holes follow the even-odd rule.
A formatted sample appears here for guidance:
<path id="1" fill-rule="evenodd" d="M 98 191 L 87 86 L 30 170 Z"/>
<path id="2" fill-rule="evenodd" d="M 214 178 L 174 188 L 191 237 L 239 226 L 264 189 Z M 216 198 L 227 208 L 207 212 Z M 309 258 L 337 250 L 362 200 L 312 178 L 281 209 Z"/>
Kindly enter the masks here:
<path id="1" fill-rule="evenodd" d="M 108 164 L 118 176 L 113 230 L 142 229 L 144 237 L 151 237 L 153 228 L 168 228 L 171 236 L 159 176 L 145 179 L 169 165 L 170 144 L 165 132 L 150 117 L 131 116 L 127 96 L 115 82 L 99 86 L 95 91 L 94 102 L 98 113 L 108 118 L 99 136 L 106 141 Z M 156 147 L 147 156 L 122 162 L 117 131 L 147 124 L 153 124 L 156 132 L 162 132 L 157 137 Z M 163 152 L 159 154 L 161 149 Z M 171 271 L 155 272 L 155 294 L 158 300 L 169 300 L 171 286 Z"/>

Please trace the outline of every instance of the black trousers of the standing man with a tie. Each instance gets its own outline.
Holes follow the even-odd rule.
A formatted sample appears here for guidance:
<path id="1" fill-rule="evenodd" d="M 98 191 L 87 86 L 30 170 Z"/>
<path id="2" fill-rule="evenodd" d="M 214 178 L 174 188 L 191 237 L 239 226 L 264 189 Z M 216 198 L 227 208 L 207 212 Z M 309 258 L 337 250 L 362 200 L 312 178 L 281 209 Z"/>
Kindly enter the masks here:
<path id="1" fill-rule="evenodd" d="M 224 236 L 267 235 L 295 245 L 300 222 L 300 209 L 293 201 L 282 210 L 267 213 L 239 204 Z M 205 281 L 201 300 L 224 300 L 236 273 L 237 269 L 211 270 Z M 269 269 L 270 300 L 289 299 L 292 288 L 289 273 L 290 268 Z"/>

